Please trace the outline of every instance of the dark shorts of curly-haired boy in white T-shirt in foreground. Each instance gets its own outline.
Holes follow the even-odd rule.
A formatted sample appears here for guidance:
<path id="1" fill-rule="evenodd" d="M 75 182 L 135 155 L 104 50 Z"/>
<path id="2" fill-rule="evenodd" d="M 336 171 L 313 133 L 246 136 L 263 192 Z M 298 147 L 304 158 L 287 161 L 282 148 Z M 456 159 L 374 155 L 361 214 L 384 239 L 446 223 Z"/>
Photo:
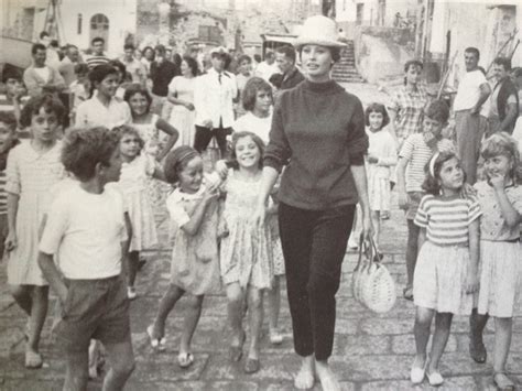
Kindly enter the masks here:
<path id="1" fill-rule="evenodd" d="M 86 351 L 90 339 L 104 345 L 130 339 L 127 284 L 120 275 L 100 280 L 66 280 L 67 297 L 54 332 L 67 352 Z"/>

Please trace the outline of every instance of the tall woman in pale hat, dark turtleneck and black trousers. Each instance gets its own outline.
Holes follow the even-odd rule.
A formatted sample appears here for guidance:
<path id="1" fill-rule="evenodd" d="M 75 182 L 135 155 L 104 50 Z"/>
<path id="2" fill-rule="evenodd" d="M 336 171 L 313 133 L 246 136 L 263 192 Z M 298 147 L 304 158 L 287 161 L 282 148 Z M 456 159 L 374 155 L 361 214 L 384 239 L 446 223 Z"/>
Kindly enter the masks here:
<path id="1" fill-rule="evenodd" d="M 317 377 L 324 390 L 339 390 L 328 367 L 335 329 L 341 263 L 359 202 L 363 233 L 372 231 L 363 155 L 368 149 L 360 100 L 331 80 L 344 43 L 326 17 L 306 20 L 294 43 L 306 79 L 284 91 L 273 113 L 264 154 L 257 218 L 283 165 L 279 222 L 286 267 L 294 348 L 302 366 L 297 389 Z"/>

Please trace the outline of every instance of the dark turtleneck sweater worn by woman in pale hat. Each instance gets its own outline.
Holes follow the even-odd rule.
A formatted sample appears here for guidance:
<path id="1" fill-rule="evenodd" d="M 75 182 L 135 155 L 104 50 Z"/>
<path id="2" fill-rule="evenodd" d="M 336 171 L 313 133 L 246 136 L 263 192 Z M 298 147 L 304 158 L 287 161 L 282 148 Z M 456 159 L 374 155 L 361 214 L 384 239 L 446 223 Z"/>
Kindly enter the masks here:
<path id="1" fill-rule="evenodd" d="M 363 165 L 367 149 L 359 98 L 333 80 L 304 80 L 275 106 L 264 165 L 287 165 L 282 203 L 322 210 L 358 203 L 350 165 Z"/>

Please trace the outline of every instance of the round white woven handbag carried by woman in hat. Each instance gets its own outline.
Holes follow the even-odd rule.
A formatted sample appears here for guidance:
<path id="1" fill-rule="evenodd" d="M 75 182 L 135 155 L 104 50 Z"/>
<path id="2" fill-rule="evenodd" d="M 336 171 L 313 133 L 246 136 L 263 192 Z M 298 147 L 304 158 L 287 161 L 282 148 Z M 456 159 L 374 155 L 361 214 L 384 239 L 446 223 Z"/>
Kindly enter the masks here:
<path id="1" fill-rule="evenodd" d="M 359 261 L 354 270 L 354 296 L 369 309 L 385 313 L 395 304 L 395 283 L 388 269 L 380 263 L 373 240 L 370 240 L 369 247 L 363 251 L 361 243 L 359 250 Z"/>

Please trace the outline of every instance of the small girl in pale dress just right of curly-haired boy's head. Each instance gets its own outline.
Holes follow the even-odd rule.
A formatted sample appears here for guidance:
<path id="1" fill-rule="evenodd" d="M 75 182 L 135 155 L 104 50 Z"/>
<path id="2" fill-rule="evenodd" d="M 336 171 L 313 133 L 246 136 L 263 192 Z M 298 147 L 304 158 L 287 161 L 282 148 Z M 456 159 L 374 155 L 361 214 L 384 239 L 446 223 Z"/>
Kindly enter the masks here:
<path id="1" fill-rule="evenodd" d="M 129 247 L 128 296 L 135 298 L 134 289 L 140 251 L 157 245 L 154 211 L 146 192 L 150 178 L 164 181 L 162 170 L 154 164 L 152 156 L 143 153 L 144 141 L 137 129 L 130 126 L 117 128 L 120 137 L 120 156 L 122 160 L 118 187 L 123 193 L 132 225 L 132 238 Z"/>

